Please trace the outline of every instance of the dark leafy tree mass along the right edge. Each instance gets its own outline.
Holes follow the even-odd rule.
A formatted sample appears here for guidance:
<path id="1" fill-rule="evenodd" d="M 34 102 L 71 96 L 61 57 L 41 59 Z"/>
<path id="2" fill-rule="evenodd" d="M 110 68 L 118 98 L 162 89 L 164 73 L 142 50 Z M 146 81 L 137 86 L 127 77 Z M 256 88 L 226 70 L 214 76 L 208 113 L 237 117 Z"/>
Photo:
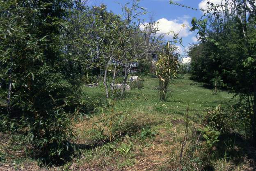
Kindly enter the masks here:
<path id="1" fill-rule="evenodd" d="M 205 16 L 213 22 L 206 27 L 206 22 L 192 20 L 192 31 L 199 30 L 201 46 L 211 49 L 205 56 L 215 63 L 210 69 L 206 62 L 205 70 L 208 73 L 215 71 L 235 93 L 241 98 L 246 97 L 251 137 L 256 144 L 255 1 L 231 0 L 217 5 L 208 1 L 208 4 L 210 7 L 204 9 Z"/>

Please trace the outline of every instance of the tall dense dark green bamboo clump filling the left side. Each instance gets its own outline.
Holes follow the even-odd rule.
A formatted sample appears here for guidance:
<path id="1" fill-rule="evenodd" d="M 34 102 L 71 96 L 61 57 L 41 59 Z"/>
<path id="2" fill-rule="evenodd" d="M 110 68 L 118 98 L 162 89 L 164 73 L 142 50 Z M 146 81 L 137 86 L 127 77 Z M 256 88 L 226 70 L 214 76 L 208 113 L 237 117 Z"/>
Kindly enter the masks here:
<path id="1" fill-rule="evenodd" d="M 79 89 L 66 77 L 75 60 L 62 39 L 73 7 L 72 0 L 0 1 L 1 130 L 18 128 L 51 162 L 71 150 L 70 120 L 79 111 Z"/>

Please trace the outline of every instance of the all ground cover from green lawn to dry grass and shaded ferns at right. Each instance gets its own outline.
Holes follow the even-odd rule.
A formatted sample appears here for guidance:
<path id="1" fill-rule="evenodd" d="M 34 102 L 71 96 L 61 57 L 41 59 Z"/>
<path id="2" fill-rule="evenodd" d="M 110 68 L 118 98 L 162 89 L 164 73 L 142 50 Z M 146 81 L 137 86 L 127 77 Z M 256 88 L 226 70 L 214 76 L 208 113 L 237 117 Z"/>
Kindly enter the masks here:
<path id="1" fill-rule="evenodd" d="M 219 119 L 219 113 L 226 113 L 226 108 L 236 102 L 232 94 L 219 91 L 213 95 L 212 90 L 185 74 L 170 86 L 172 97 L 163 102 L 155 90 L 158 79 L 147 78 L 143 84 L 144 89 L 130 90 L 124 98 L 111 101 L 98 98 L 103 97 L 102 88 L 84 88 L 97 108 L 73 123 L 77 137 L 73 140 L 76 151 L 72 160 L 48 169 L 255 169 L 255 150 L 243 134 L 245 127 L 234 130 L 229 126 L 229 114 Z M 209 117 L 209 113 L 215 115 Z M 18 144 L 14 137 L 1 137 L 5 137 L 0 144 L 1 163 L 14 163 L 15 168 L 36 165 L 35 158 L 26 153 L 27 144 Z"/>

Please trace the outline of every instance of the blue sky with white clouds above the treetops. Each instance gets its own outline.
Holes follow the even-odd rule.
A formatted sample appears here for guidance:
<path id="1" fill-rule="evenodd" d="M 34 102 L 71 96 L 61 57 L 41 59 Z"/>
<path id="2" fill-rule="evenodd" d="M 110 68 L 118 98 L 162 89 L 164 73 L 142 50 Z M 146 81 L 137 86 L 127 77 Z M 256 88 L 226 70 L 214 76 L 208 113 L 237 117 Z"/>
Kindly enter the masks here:
<path id="1" fill-rule="evenodd" d="M 221 0 L 211 0 L 211 2 L 218 3 Z M 107 5 L 107 10 L 112 11 L 115 14 L 121 14 L 121 4 L 131 2 L 130 0 L 90 0 L 89 5 L 98 6 L 103 3 Z M 189 7 L 197 9 L 206 8 L 207 0 L 174 0 Z M 192 43 L 197 43 L 196 33 L 190 32 L 191 20 L 193 17 L 200 18 L 203 13 L 200 10 L 187 9 L 185 7 L 179 7 L 173 4 L 169 4 L 169 0 L 140 0 L 140 7 L 146 8 L 147 13 L 141 18 L 148 22 L 153 17 L 155 21 L 158 21 L 158 29 L 160 33 L 167 33 L 174 31 L 179 33 L 179 36 L 183 39 L 183 46 L 181 53 L 184 54 L 184 50 Z M 185 24 L 186 27 L 182 28 L 181 25 Z M 181 30 L 181 31 L 180 31 Z M 165 36 L 168 40 L 168 36 Z"/>

